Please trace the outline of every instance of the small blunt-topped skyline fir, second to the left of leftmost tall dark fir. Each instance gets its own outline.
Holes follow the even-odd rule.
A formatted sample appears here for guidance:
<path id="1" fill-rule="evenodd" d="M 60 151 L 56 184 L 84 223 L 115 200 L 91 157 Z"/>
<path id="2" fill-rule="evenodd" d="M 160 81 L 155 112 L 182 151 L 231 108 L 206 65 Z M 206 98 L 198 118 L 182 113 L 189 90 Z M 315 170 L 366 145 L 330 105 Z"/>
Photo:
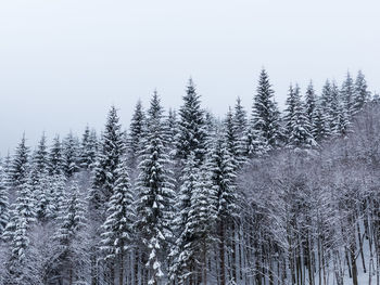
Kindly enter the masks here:
<path id="1" fill-rule="evenodd" d="M 63 140 L 63 171 L 68 178 L 79 171 L 79 142 L 72 132 Z"/>

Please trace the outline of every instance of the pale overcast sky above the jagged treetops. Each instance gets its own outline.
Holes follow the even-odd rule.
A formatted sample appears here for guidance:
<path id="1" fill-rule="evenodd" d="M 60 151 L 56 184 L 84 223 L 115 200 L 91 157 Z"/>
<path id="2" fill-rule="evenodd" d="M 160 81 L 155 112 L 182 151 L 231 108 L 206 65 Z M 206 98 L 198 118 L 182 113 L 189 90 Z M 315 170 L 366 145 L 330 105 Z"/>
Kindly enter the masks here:
<path id="1" fill-rule="evenodd" d="M 125 127 L 156 88 L 178 107 L 191 76 L 221 116 L 251 106 L 262 66 L 283 105 L 290 82 L 320 90 L 363 69 L 379 90 L 378 0 L 0 1 L 0 153 L 46 131 L 98 130 L 109 107 Z"/>

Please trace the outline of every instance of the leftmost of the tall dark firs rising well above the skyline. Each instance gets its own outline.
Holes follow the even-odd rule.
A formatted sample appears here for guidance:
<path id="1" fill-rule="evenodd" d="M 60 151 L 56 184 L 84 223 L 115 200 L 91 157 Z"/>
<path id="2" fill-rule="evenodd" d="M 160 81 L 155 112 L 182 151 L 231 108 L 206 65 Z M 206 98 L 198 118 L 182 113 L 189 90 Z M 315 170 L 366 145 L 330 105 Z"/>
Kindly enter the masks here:
<path id="1" fill-rule="evenodd" d="M 105 124 L 94 166 L 90 203 L 93 207 L 104 207 L 113 194 L 116 168 L 125 155 L 124 132 L 115 106 L 112 106 Z"/>

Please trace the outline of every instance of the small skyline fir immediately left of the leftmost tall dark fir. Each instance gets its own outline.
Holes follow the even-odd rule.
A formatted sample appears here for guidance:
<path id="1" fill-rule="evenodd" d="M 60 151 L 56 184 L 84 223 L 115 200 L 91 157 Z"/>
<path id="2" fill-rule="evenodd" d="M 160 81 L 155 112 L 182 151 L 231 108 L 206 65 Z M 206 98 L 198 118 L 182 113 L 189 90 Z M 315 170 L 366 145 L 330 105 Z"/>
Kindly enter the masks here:
<path id="1" fill-rule="evenodd" d="M 86 126 L 85 132 L 81 137 L 80 144 L 80 167 L 84 169 L 92 169 L 97 158 L 98 139 L 96 130 L 90 130 Z"/>

